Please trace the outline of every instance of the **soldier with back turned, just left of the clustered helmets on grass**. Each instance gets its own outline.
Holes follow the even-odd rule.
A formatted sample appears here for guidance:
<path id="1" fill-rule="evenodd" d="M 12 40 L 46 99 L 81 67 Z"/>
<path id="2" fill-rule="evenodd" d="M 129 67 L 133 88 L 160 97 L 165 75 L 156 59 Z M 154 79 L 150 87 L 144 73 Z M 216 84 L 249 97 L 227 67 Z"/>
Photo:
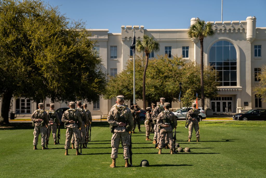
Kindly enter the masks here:
<path id="1" fill-rule="evenodd" d="M 165 138 L 169 139 L 169 147 L 171 149 L 171 154 L 173 154 L 174 142 L 173 142 L 173 128 L 176 129 L 177 121 L 174 113 L 169 111 L 170 103 L 164 103 L 164 111 L 158 114 L 157 124 L 160 129 L 160 142 L 159 142 L 159 152 L 161 154 L 163 143 Z"/>

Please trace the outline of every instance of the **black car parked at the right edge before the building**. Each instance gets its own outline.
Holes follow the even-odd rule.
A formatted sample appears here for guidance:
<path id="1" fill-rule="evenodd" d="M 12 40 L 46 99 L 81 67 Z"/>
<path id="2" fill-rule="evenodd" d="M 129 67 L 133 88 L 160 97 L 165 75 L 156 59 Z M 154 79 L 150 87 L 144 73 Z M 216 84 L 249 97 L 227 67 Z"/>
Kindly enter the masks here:
<path id="1" fill-rule="evenodd" d="M 234 120 L 266 120 L 266 109 L 251 109 L 245 113 L 238 113 L 233 116 Z"/>

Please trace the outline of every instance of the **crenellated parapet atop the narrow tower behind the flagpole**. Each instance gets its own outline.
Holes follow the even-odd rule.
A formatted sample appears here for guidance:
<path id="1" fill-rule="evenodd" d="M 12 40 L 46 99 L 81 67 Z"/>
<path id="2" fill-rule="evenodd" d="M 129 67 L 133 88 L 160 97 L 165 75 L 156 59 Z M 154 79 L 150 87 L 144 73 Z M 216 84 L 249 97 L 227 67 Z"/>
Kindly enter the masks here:
<path id="1" fill-rule="evenodd" d="M 133 37 L 134 37 L 134 27 L 135 27 L 135 37 L 136 40 L 137 39 L 142 39 L 143 34 L 144 34 L 144 26 L 121 26 L 121 38 L 123 42 L 129 42 L 132 41 Z"/>

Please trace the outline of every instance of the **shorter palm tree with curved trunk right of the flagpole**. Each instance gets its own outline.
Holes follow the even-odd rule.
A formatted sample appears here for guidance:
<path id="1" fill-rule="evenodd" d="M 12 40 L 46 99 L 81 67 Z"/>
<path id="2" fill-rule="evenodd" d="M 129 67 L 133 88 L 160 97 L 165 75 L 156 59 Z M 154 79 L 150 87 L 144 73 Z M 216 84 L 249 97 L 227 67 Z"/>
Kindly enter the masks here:
<path id="1" fill-rule="evenodd" d="M 146 91 L 145 91 L 145 81 L 146 81 L 146 71 L 148 68 L 149 53 L 152 51 L 156 52 L 160 50 L 160 45 L 154 38 L 148 35 L 143 35 L 142 41 L 138 40 L 136 43 L 136 50 L 140 53 L 145 53 L 146 63 L 143 72 L 143 86 L 142 86 L 142 97 L 143 97 L 143 109 L 146 109 Z"/>

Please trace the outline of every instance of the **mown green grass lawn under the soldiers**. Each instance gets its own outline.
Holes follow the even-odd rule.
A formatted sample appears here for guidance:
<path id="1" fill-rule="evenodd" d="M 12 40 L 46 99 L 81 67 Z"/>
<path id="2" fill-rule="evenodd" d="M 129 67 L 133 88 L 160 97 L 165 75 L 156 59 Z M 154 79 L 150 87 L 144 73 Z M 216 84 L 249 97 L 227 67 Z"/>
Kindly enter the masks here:
<path id="1" fill-rule="evenodd" d="M 75 149 L 64 155 L 65 129 L 60 129 L 60 145 L 41 150 L 39 136 L 38 150 L 33 150 L 34 128 L 13 123 L 0 128 L 0 177 L 265 177 L 266 121 L 202 121 L 198 143 L 194 133 L 192 142 L 186 141 L 184 125 L 178 121 L 177 143 L 191 153 L 170 155 L 163 149 L 158 155 L 152 141 L 145 141 L 145 132 L 138 132 L 132 136 L 133 167 L 124 168 L 121 148 L 118 167 L 109 168 L 112 134 L 107 122 L 93 123 L 92 141 L 79 156 Z M 150 167 L 139 167 L 143 159 Z"/>

